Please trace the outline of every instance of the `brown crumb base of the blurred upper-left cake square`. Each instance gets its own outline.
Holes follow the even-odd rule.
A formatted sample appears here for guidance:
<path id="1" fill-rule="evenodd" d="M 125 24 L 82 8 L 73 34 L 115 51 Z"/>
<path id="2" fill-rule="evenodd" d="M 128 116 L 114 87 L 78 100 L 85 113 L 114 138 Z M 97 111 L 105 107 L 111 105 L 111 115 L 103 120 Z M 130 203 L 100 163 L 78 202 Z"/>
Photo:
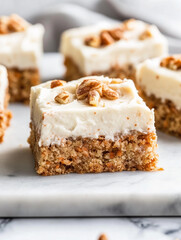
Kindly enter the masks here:
<path id="1" fill-rule="evenodd" d="M 40 83 L 38 69 L 19 70 L 17 68 L 9 68 L 7 71 L 10 101 L 28 104 L 31 87 Z"/>

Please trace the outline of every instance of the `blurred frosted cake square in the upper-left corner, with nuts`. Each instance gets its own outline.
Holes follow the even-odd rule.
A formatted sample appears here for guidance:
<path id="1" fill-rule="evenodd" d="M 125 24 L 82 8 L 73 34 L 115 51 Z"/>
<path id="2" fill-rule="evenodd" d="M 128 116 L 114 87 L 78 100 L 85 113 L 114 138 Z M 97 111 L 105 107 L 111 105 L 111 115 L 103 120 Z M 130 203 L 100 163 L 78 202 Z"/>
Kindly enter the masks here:
<path id="1" fill-rule="evenodd" d="M 8 71 L 10 101 L 29 101 L 30 88 L 40 83 L 39 62 L 44 28 L 13 14 L 0 17 L 0 64 Z"/>

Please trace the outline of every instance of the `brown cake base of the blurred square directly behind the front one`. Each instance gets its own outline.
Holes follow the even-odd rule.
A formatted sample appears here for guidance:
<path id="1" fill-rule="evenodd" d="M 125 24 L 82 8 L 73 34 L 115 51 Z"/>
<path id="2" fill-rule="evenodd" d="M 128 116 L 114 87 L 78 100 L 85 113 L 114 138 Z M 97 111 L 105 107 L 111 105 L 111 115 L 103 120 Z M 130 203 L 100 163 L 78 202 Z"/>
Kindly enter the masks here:
<path id="1" fill-rule="evenodd" d="M 64 65 L 66 67 L 65 79 L 67 81 L 71 81 L 74 79 L 79 79 L 81 77 L 86 77 L 85 74 L 82 74 L 76 63 L 69 57 L 65 57 Z M 128 65 L 127 67 L 120 68 L 119 66 L 111 67 L 110 70 L 105 72 L 93 72 L 89 74 L 90 76 L 100 76 L 104 75 L 110 78 L 129 78 L 135 79 L 135 69 L 132 65 Z"/>

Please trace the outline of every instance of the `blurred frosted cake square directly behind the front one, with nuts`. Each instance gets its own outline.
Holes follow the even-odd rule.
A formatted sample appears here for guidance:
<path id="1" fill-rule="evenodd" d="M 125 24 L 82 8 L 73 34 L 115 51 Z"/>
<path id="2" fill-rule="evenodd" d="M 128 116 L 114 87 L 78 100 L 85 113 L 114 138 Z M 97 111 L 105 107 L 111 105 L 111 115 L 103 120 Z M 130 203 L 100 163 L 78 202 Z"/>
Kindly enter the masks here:
<path id="1" fill-rule="evenodd" d="M 134 79 L 138 63 L 167 53 L 167 41 L 156 26 L 131 19 L 67 30 L 60 51 L 67 80 L 88 75 Z"/>

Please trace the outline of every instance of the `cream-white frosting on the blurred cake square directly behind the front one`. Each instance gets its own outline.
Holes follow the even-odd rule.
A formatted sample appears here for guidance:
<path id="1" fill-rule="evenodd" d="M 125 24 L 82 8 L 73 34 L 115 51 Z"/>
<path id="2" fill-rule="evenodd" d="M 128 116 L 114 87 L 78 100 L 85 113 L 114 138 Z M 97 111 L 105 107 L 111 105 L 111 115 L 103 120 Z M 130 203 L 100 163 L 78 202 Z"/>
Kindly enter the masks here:
<path id="1" fill-rule="evenodd" d="M 115 65 L 124 67 L 133 64 L 135 66 L 147 58 L 167 53 L 167 41 L 156 26 L 149 26 L 151 38 L 139 40 L 140 34 L 147 29 L 148 24 L 136 20 L 131 24 L 132 30 L 125 33 L 128 40 L 119 40 L 101 48 L 86 46 L 85 38 L 99 34 L 104 29 L 114 29 L 119 24 L 101 23 L 67 30 L 62 35 L 60 51 L 65 57 L 70 57 L 85 75 L 107 71 Z"/>

